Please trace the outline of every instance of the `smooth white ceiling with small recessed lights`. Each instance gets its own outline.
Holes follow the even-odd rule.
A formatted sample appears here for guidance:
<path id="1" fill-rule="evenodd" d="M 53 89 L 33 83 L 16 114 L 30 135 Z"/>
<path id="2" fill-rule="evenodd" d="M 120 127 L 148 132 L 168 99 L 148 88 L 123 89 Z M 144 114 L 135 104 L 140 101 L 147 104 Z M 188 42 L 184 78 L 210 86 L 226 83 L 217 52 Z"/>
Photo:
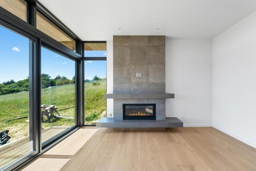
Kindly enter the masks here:
<path id="1" fill-rule="evenodd" d="M 256 11 L 256 0 L 39 2 L 84 41 L 111 40 L 113 35 L 165 35 L 179 39 L 214 38 Z"/>

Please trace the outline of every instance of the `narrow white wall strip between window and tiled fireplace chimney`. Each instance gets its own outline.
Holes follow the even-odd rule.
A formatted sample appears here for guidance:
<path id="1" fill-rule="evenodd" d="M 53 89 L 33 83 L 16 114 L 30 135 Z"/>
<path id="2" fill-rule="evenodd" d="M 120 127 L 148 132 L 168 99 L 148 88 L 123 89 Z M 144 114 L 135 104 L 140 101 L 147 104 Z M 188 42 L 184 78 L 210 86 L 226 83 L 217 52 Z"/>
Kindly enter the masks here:
<path id="1" fill-rule="evenodd" d="M 113 93 L 113 40 L 107 40 L 107 93 Z M 107 117 L 113 117 L 113 99 L 107 99 Z"/>

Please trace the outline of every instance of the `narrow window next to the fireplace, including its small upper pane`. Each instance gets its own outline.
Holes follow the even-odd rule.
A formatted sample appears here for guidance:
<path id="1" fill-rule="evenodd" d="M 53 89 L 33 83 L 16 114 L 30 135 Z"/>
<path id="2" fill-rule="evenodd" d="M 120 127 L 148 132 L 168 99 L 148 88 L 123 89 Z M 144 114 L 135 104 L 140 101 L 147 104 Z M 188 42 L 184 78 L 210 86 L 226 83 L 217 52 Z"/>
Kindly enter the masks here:
<path id="1" fill-rule="evenodd" d="M 106 42 L 84 42 L 84 123 L 106 117 Z"/>

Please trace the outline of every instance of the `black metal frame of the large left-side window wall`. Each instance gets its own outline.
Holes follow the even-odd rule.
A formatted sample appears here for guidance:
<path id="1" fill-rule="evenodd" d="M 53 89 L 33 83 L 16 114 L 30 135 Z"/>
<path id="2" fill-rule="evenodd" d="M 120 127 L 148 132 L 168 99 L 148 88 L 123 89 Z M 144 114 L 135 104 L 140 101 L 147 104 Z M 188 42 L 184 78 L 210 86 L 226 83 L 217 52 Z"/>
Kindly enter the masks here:
<path id="1" fill-rule="evenodd" d="M 47 149 L 60 142 L 62 139 L 78 130 L 84 125 L 84 107 L 83 107 L 83 83 L 84 83 L 84 65 L 82 58 L 82 40 L 76 36 L 70 29 L 68 29 L 58 18 L 56 18 L 49 10 L 47 10 L 37 0 L 24 0 L 27 2 L 27 22 L 15 16 L 8 10 L 0 6 L 0 25 L 10 29 L 22 36 L 29 38 L 29 103 L 30 103 L 30 130 L 33 131 L 30 138 L 33 139 L 33 152 L 26 155 L 24 158 L 8 165 L 2 170 L 18 170 L 30 161 L 44 153 Z M 76 41 L 76 52 L 70 50 L 60 42 L 54 40 L 50 36 L 44 34 L 40 30 L 36 29 L 36 11 L 40 11 L 42 14 L 56 24 L 58 28 L 68 34 Z M 54 52 L 62 54 L 63 56 L 74 60 L 76 62 L 76 125 L 70 127 L 70 129 L 64 131 L 60 135 L 54 137 L 47 143 L 42 145 L 41 143 L 41 46 L 51 49 Z"/>

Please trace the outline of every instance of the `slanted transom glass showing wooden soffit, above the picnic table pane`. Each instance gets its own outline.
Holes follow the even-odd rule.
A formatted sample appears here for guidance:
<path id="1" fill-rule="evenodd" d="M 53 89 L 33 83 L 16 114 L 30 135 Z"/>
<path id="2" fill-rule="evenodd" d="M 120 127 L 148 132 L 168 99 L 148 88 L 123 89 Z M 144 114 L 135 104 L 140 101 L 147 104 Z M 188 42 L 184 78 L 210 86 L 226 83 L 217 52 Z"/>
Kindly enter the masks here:
<path id="1" fill-rule="evenodd" d="M 76 50 L 76 41 L 38 12 L 36 12 L 36 28 L 71 50 Z"/>

